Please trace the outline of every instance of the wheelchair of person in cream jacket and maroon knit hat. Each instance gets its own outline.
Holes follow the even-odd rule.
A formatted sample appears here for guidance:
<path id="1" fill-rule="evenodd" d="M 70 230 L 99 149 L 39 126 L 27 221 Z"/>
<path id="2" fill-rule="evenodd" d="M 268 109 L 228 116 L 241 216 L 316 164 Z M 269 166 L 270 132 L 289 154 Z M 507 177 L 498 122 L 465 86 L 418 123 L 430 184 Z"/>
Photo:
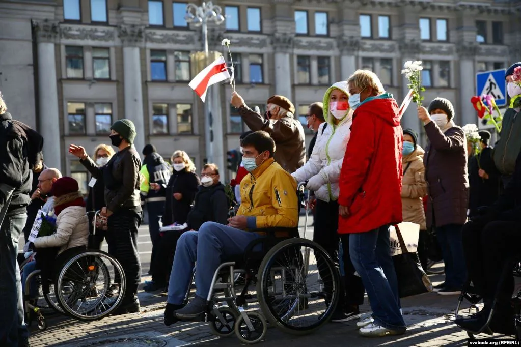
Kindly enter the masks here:
<path id="1" fill-rule="evenodd" d="M 94 213 L 94 236 L 100 211 L 90 212 Z M 54 313 L 83 321 L 97 320 L 114 312 L 121 304 L 126 281 L 116 259 L 90 247 L 67 251 L 63 252 L 64 256 L 59 254 L 54 264 L 44 264 L 52 266 L 52 271 L 36 269 L 28 275 L 24 288 L 27 325 L 36 318 L 39 329 L 44 330 L 45 316 Z M 21 273 L 29 260 L 20 265 Z M 38 298 L 30 298 L 34 283 L 39 287 Z"/>

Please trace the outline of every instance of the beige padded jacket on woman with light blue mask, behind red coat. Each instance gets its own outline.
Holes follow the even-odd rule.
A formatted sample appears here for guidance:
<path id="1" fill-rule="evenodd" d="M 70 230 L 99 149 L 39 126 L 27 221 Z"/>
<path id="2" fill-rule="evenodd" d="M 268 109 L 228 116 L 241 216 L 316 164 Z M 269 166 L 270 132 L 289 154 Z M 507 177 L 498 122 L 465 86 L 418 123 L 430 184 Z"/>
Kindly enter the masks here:
<path id="1" fill-rule="evenodd" d="M 406 170 L 402 179 L 403 221 L 419 224 L 420 230 L 426 229 L 425 210 L 421 200 L 427 195 L 423 163 L 424 153 L 423 148 L 416 145 L 416 149 L 402 159 L 403 170 Z"/>

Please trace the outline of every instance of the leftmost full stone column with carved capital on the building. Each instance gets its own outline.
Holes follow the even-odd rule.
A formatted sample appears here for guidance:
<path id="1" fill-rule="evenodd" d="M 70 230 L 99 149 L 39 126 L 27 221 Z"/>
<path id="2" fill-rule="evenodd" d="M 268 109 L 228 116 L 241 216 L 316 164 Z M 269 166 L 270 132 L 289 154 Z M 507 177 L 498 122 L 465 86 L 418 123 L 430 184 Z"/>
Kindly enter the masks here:
<path id="1" fill-rule="evenodd" d="M 43 136 L 45 164 L 61 171 L 61 136 L 58 110 L 58 87 L 56 76 L 55 42 L 58 23 L 32 21 L 38 40 L 38 98 L 39 128 Z"/>

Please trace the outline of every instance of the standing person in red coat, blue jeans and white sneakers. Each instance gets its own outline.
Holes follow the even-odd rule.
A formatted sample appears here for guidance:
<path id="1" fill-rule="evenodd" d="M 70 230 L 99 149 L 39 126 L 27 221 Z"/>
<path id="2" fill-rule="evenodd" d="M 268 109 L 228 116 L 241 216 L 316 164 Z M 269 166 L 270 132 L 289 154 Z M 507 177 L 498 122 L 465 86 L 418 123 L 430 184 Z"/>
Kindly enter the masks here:
<path id="1" fill-rule="evenodd" d="M 350 234 L 351 261 L 373 309 L 356 325 L 363 336 L 400 335 L 406 327 L 389 252 L 389 226 L 402 222 L 398 104 L 371 71 L 355 71 L 348 84 L 355 112 L 340 172 L 338 232 Z"/>

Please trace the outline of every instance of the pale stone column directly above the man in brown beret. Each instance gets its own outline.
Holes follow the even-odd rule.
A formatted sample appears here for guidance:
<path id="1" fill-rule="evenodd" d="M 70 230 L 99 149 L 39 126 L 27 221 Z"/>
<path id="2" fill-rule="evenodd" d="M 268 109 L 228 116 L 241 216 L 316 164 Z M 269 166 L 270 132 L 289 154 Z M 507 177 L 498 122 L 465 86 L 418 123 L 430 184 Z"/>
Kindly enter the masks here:
<path id="1" fill-rule="evenodd" d="M 272 44 L 275 50 L 275 93 L 292 99 L 290 53 L 294 37 L 290 34 L 275 34 Z"/>

